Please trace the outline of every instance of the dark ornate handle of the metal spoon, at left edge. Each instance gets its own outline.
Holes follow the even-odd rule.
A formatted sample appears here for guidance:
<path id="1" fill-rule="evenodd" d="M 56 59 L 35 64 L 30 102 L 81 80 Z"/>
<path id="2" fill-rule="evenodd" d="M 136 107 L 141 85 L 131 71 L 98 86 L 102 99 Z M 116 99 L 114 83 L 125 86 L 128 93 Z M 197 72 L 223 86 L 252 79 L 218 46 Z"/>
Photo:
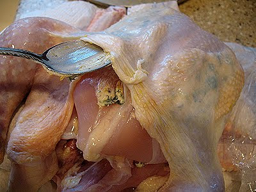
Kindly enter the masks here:
<path id="1" fill-rule="evenodd" d="M 7 47 L 0 47 L 0 54 L 8 56 L 16 56 L 19 58 L 25 58 L 28 60 L 38 61 L 39 63 L 44 63 L 42 56 L 40 54 L 35 54 L 34 52 L 26 51 L 23 49 L 12 49 Z"/>

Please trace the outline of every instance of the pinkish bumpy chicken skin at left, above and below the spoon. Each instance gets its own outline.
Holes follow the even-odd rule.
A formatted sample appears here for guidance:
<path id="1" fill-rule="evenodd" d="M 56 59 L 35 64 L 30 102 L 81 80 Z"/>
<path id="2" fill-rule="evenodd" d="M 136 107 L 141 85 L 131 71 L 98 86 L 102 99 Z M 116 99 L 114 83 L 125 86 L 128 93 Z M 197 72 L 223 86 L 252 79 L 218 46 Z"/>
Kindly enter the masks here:
<path id="1" fill-rule="evenodd" d="M 3 32 L 5 41 L 2 45 L 12 47 L 13 44 L 15 48 L 42 53 L 52 45 L 67 41 L 67 35 L 77 32 L 79 29 L 54 19 L 22 19 Z M 0 117 L 3 125 L 1 143 L 4 143 L 13 111 L 30 91 L 6 148 L 12 159 L 8 189 L 37 191 L 58 171 L 54 148 L 74 106 L 68 93 L 70 81 L 49 76 L 40 65 L 24 59 L 6 57 L 0 67 L 3 72 L 0 81 L 4 87 L 0 103 L 5 109 Z"/>

